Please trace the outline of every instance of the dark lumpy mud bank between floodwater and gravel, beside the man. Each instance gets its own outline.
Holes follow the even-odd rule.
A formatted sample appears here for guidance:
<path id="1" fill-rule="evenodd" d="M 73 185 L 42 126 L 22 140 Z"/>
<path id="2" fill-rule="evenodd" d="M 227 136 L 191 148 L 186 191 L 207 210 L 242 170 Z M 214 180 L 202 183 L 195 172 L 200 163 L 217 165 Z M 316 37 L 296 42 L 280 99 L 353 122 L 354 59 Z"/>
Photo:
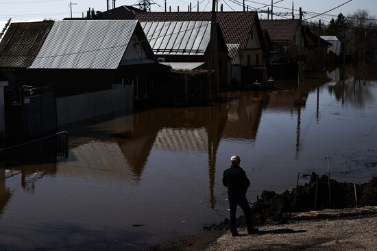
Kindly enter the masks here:
<path id="1" fill-rule="evenodd" d="M 330 189 L 329 189 L 330 187 Z M 276 194 L 274 191 L 263 191 L 260 198 L 252 204 L 254 224 L 284 224 L 288 213 L 306 212 L 323 209 L 344 209 L 377 205 L 377 177 L 363 184 L 328 180 L 328 176 L 318 176 L 314 172 L 304 185 Z M 237 225 L 245 227 L 245 218 L 237 218 Z M 204 230 L 228 230 L 229 220 L 218 225 L 206 226 Z"/>

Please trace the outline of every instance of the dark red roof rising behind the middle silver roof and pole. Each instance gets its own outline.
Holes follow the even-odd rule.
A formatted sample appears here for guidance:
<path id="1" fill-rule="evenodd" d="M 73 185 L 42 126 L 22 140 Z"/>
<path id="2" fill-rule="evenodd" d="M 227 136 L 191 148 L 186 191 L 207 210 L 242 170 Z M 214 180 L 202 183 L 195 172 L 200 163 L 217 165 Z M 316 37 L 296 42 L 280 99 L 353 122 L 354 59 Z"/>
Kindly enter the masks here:
<path id="1" fill-rule="evenodd" d="M 146 12 L 136 13 L 140 22 L 153 21 L 210 21 L 211 12 Z M 241 44 L 245 49 L 253 22 L 259 26 L 256 12 L 217 12 L 217 21 L 227 44 Z"/>

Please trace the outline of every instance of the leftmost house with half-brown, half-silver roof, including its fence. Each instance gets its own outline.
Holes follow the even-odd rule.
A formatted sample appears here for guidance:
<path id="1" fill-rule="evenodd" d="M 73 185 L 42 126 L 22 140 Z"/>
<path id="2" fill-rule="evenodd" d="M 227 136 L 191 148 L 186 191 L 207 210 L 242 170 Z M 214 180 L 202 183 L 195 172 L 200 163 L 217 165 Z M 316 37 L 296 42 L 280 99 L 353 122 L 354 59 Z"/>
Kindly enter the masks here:
<path id="1" fill-rule="evenodd" d="M 49 114 L 38 121 L 38 116 L 29 116 L 33 121 L 24 131 L 45 128 L 53 118 L 62 128 L 148 103 L 151 85 L 158 85 L 170 69 L 156 62 L 143 28 L 134 20 L 12 24 L 0 43 L 0 68 L 10 80 L 9 106 L 20 105 L 24 115 Z M 49 104 L 40 99 L 47 93 L 53 94 Z M 52 116 L 47 108 L 55 105 Z"/>

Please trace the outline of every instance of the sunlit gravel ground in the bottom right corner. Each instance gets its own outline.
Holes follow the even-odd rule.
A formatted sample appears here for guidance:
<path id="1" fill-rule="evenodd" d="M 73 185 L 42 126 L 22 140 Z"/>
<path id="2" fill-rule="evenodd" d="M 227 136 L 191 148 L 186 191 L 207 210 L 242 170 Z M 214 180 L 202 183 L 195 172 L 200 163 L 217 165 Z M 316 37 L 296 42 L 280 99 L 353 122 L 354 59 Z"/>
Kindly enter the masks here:
<path id="1" fill-rule="evenodd" d="M 206 250 L 377 250 L 376 216 L 294 222 L 259 230 L 257 235 L 238 237 L 226 233 Z"/>

